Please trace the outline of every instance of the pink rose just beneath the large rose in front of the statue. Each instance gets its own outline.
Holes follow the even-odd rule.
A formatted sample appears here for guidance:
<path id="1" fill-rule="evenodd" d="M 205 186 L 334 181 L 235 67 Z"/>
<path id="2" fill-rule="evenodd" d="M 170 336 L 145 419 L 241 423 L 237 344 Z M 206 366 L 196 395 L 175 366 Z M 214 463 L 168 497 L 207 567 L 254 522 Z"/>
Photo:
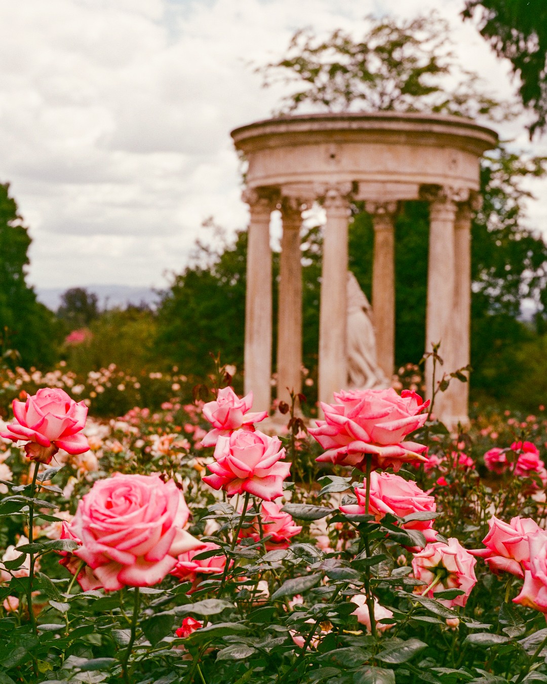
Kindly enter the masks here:
<path id="1" fill-rule="evenodd" d="M 341 506 L 340 510 L 349 515 L 365 514 L 366 480 L 362 488 L 356 487 L 357 503 Z M 392 473 L 371 473 L 371 491 L 369 499 L 369 513 L 381 520 L 386 513 L 403 518 L 412 513 L 434 513 L 436 503 L 433 497 L 421 490 L 416 482 L 407 482 L 404 477 Z M 404 523 L 405 529 L 419 529 L 428 542 L 434 542 L 437 533 L 432 529 L 433 521 L 414 520 Z"/>

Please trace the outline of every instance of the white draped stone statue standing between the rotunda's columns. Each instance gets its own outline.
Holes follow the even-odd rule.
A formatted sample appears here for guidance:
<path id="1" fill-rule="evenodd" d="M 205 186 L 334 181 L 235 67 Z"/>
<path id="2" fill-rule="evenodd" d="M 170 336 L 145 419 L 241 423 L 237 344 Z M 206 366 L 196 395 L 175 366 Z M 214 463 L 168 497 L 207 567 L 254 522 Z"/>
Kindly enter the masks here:
<path id="1" fill-rule="evenodd" d="M 377 363 L 372 307 L 351 271 L 347 273 L 347 386 L 348 389 L 390 386 Z"/>

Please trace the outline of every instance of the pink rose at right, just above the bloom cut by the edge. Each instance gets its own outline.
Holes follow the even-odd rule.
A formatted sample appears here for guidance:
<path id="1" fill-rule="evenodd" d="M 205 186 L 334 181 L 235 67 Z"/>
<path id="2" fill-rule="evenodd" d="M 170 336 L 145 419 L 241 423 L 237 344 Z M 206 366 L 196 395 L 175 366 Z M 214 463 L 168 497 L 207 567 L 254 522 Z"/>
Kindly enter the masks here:
<path id="1" fill-rule="evenodd" d="M 532 518 L 511 518 L 511 523 L 504 523 L 492 516 L 488 521 L 490 527 L 483 539 L 485 549 L 469 551 L 472 555 L 484 558 L 493 573 L 511 573 L 516 577 L 524 577 L 524 568 L 530 564 L 530 548 L 528 538 L 539 531 L 539 526 Z"/>

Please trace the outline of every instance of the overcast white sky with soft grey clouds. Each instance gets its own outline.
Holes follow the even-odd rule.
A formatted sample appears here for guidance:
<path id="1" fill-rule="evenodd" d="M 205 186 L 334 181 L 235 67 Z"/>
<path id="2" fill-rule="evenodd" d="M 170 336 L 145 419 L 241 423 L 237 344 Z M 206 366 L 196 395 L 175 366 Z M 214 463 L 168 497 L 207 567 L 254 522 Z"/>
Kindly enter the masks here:
<path id="1" fill-rule="evenodd" d="M 498 96 L 515 84 L 463 0 L 0 0 L 0 181 L 33 244 L 38 287 L 165 285 L 204 218 L 247 221 L 231 129 L 266 118 L 249 62 L 279 57 L 310 25 L 359 36 L 369 12 L 437 8 L 464 66 Z M 498 127 L 531 149 L 522 122 Z M 546 142 L 535 151 L 546 152 Z M 536 194 L 547 183 L 533 186 Z M 531 203 L 532 227 L 547 200 Z"/>

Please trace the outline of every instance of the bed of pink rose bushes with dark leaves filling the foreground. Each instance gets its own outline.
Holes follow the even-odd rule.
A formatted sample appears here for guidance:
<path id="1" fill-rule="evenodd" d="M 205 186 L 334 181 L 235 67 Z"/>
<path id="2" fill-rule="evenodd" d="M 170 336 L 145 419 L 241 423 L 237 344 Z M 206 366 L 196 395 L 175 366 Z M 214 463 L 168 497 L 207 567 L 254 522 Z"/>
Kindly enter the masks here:
<path id="1" fill-rule="evenodd" d="M 413 393 L 340 393 L 317 441 L 220 391 L 214 449 L 175 396 L 49 467 L 0 438 L 8 684 L 547 679 L 547 417 L 450 433 Z"/>

